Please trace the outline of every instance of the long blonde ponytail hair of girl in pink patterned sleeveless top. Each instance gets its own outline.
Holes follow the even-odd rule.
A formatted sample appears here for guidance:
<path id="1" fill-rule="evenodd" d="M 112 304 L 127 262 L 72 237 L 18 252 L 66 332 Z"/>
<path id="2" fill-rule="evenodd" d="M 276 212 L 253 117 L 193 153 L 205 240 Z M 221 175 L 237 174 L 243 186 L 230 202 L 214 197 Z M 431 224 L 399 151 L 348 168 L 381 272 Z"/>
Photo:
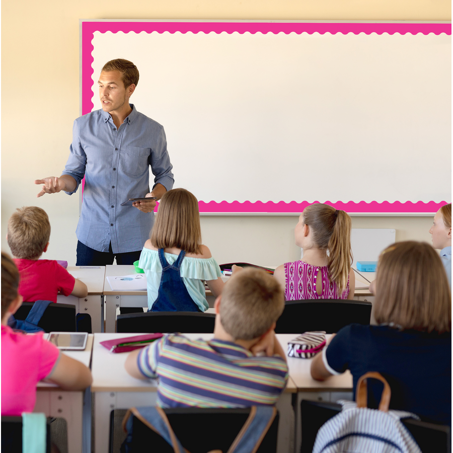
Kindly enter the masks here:
<path id="1" fill-rule="evenodd" d="M 310 226 L 315 244 L 329 251 L 329 277 L 343 292 L 352 265 L 351 217 L 328 204 L 316 203 L 304 209 L 303 221 Z"/>

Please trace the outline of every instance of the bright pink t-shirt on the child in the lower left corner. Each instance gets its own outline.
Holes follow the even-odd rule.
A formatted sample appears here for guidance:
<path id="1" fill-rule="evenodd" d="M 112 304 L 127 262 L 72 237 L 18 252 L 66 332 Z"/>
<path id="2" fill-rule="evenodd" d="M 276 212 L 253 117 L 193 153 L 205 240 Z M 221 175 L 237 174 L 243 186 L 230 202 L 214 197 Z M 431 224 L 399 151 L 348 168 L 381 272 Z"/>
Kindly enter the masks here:
<path id="1" fill-rule="evenodd" d="M 59 352 L 42 333 L 27 335 L 2 326 L 2 415 L 33 411 L 36 384 L 50 374 Z"/>

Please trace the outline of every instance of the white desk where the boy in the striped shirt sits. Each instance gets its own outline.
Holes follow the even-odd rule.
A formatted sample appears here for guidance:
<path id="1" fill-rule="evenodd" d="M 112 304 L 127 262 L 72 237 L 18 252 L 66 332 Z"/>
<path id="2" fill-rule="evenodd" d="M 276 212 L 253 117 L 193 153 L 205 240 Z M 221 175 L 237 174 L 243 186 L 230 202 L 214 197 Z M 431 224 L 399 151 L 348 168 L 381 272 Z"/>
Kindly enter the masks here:
<path id="1" fill-rule="evenodd" d="M 107 453 L 109 447 L 110 412 L 132 406 L 155 406 L 157 385 L 153 381 L 132 378 L 124 369 L 127 353 L 113 354 L 100 344 L 101 341 L 140 334 L 104 333 L 95 334 L 93 345 L 93 384 L 95 409 L 95 453 Z M 212 338 L 212 334 L 186 334 L 188 338 Z M 289 379 L 281 395 L 277 409 L 280 412 L 278 431 L 279 453 L 287 453 L 293 438 L 291 396 L 296 392 L 294 382 Z"/>

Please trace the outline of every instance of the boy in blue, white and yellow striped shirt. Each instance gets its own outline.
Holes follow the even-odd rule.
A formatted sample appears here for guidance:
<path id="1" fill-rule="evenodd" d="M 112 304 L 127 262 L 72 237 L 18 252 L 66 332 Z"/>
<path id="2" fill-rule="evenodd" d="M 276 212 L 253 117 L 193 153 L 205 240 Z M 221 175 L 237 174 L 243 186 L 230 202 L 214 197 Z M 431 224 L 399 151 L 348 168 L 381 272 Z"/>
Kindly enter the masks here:
<path id="1" fill-rule="evenodd" d="M 125 367 L 138 379 L 159 378 L 162 407 L 241 408 L 276 403 L 288 379 L 275 337 L 283 289 L 259 269 L 244 269 L 215 300 L 214 338 L 168 335 L 130 353 Z M 259 354 L 259 355 L 257 355 Z"/>

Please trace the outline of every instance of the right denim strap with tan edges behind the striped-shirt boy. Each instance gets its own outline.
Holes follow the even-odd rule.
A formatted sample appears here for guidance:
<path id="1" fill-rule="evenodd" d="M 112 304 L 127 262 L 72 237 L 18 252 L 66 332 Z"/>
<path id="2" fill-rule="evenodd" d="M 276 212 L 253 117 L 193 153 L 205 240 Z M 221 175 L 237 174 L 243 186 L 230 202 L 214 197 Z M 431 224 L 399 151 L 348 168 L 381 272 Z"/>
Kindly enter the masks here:
<path id="1" fill-rule="evenodd" d="M 249 417 L 227 453 L 255 453 L 276 414 L 274 406 L 252 406 Z"/>

